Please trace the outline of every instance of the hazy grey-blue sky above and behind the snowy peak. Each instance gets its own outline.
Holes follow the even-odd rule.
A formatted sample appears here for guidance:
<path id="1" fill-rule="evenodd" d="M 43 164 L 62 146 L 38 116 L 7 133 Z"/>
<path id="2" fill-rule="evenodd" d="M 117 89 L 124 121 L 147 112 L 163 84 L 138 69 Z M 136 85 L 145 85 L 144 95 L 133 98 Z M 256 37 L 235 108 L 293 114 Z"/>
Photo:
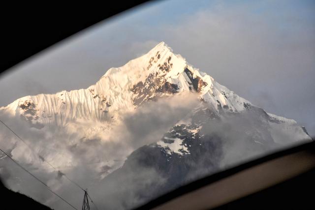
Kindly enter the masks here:
<path id="1" fill-rule="evenodd" d="M 200 71 L 315 136 L 315 1 L 162 0 L 116 15 L 0 75 L 0 106 L 87 88 L 165 41 Z"/>

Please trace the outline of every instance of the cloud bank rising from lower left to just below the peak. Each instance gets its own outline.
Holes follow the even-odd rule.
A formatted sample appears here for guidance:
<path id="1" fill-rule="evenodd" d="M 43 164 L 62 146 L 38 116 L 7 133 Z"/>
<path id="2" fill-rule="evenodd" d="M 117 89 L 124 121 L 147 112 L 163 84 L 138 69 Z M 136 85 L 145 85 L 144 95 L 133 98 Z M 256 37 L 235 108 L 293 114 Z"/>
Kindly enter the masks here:
<path id="1" fill-rule="evenodd" d="M 117 193 L 126 192 L 126 188 L 123 186 L 103 189 L 99 185 L 102 178 L 120 167 L 132 151 L 160 140 L 163 134 L 178 120 L 184 118 L 197 103 L 198 100 L 194 93 L 159 98 L 157 101 L 148 102 L 126 114 L 120 122 L 112 125 L 111 130 L 107 130 L 105 133 L 96 132 L 95 136 L 92 136 L 93 138 L 84 137 L 84 133 L 81 133 L 78 128 L 91 126 L 89 123 L 80 124 L 75 121 L 73 124 L 76 129 L 74 130 L 53 124 L 36 129 L 30 128 L 29 124 L 20 118 L 1 113 L 1 120 L 16 131 L 26 144 L 17 139 L 5 126 L 0 126 L 0 138 L 3 139 L 0 148 L 10 151 L 15 160 L 77 207 L 81 205 L 82 191 L 69 182 L 63 173 L 82 187 L 88 187 L 89 192 L 94 195 L 93 200 L 102 204 L 105 195 L 109 197 L 114 195 L 114 189 Z M 92 128 L 97 129 L 102 122 L 99 122 L 100 124 L 91 123 L 94 124 Z M 43 160 L 47 160 L 57 170 Z M 142 176 L 142 178 L 139 177 L 139 181 L 142 184 L 156 184 L 158 180 L 163 181 L 151 169 L 134 168 L 134 173 L 139 171 Z M 49 193 L 43 185 L 15 166 L 8 158 L 2 158 L 2 156 L 0 176 L 4 183 L 13 190 L 19 190 L 52 208 L 65 208 L 64 204 Z M 134 177 L 130 174 L 130 178 L 121 177 L 120 179 L 131 179 L 131 176 Z M 17 180 L 16 177 L 19 179 Z M 140 183 L 133 183 L 132 186 L 126 185 L 131 191 L 132 189 L 136 191 L 136 186 L 142 185 Z M 78 198 L 80 198 L 80 202 L 78 202 Z M 112 202 L 114 201 L 112 200 Z"/>

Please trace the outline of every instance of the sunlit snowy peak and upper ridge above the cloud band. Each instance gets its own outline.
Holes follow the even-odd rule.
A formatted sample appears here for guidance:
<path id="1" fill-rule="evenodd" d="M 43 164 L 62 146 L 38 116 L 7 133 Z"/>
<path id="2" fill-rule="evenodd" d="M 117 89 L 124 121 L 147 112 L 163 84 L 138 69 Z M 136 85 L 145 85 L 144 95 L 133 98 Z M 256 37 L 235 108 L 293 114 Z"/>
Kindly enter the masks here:
<path id="1" fill-rule="evenodd" d="M 189 91 L 197 92 L 198 97 L 217 113 L 242 112 L 252 106 L 211 76 L 189 65 L 180 55 L 173 54 L 161 42 L 147 54 L 130 60 L 124 66 L 110 68 L 88 89 L 25 96 L 1 107 L 0 114 L 21 116 L 39 129 L 49 124 L 67 126 L 77 119 L 110 124 L 146 101 Z M 294 120 L 269 116 L 278 122 L 272 127 L 285 130 L 288 136 L 293 137 L 290 139 L 309 138 Z M 99 132 L 99 129 L 96 131 Z M 275 133 L 275 141 L 282 141 L 277 139 L 276 132 L 271 132 Z"/>

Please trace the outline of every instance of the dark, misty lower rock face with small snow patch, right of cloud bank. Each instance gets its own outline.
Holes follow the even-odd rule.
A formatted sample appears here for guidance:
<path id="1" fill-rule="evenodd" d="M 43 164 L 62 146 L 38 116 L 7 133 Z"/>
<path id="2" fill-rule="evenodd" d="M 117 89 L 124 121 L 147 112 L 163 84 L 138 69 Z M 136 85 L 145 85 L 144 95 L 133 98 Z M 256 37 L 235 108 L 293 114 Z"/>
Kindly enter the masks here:
<path id="1" fill-rule="evenodd" d="M 157 143 L 132 152 L 123 167 L 104 179 L 104 187 L 124 182 L 133 191 L 116 188 L 105 198 L 117 203 L 107 207 L 134 208 L 228 165 L 279 149 L 268 130 L 270 120 L 260 108 L 221 115 L 207 106 L 194 110 L 185 123 L 178 122 Z"/>

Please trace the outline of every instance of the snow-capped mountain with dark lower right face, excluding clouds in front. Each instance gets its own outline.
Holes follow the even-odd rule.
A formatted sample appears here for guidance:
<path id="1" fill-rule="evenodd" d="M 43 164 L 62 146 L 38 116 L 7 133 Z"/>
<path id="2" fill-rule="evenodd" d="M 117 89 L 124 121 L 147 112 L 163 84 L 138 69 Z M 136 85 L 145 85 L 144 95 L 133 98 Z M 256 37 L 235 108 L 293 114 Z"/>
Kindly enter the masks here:
<path id="1" fill-rule="evenodd" d="M 110 68 L 88 89 L 25 96 L 1 107 L 0 117 L 20 120 L 32 132 L 47 131 L 53 126 L 62 128 L 71 137 L 63 140 L 71 146 L 67 150 L 71 156 L 73 148 L 82 142 L 114 141 L 118 133 L 113 127 L 146 104 L 187 95 L 195 97 L 198 103 L 185 117 L 175 119 L 177 122 L 154 143 L 130 150 L 130 155 L 121 157 L 123 161 L 118 163 L 117 157 L 107 156 L 106 161 L 101 161 L 101 157 L 88 156 L 87 162 L 97 160 L 97 167 L 103 170 L 98 171 L 102 179 L 105 177 L 99 187 L 115 188 L 104 192 L 104 197 L 117 201 L 106 207 L 134 207 L 229 164 L 294 142 L 312 140 L 296 121 L 254 106 L 189 65 L 164 42 L 122 67 Z M 63 156 L 57 160 L 51 153 L 45 155 L 59 167 L 77 166 L 75 158 L 69 155 L 66 161 Z M 120 186 L 121 182 L 124 186 Z"/>

